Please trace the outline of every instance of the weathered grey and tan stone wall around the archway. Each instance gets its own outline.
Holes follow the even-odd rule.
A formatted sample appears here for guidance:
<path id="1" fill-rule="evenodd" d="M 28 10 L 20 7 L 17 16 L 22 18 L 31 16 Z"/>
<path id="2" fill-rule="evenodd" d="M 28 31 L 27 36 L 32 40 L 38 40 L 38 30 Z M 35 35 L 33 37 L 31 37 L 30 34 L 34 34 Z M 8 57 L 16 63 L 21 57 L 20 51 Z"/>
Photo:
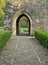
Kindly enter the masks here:
<path id="1" fill-rule="evenodd" d="M 13 18 L 20 10 L 31 14 L 33 32 L 38 29 L 48 31 L 48 0 L 10 0 L 5 10 L 5 29 L 12 30 Z"/>

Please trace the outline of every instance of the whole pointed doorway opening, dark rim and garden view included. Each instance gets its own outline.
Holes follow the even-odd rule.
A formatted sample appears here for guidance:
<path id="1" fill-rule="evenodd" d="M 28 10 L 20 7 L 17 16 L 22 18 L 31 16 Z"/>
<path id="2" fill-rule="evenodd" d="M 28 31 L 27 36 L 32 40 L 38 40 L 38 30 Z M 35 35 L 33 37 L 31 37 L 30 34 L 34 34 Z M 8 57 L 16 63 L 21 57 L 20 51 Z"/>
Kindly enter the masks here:
<path id="1" fill-rule="evenodd" d="M 27 21 L 24 21 L 24 20 L 27 20 Z M 25 14 L 21 14 L 17 18 L 16 35 L 30 35 L 30 20 Z"/>

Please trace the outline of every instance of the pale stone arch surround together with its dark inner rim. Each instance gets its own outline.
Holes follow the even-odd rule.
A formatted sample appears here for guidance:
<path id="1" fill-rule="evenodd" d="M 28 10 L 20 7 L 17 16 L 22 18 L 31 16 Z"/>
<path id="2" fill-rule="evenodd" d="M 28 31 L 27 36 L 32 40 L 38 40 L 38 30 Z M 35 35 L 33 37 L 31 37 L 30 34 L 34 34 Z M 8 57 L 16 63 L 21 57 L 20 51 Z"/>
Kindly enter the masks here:
<path id="1" fill-rule="evenodd" d="M 26 11 L 26 10 L 19 10 L 15 13 L 15 15 L 12 18 L 12 32 L 13 35 L 18 35 L 19 34 L 19 21 L 22 17 L 25 17 L 28 20 L 28 30 L 29 33 L 28 35 L 32 35 L 33 34 L 33 27 L 32 27 L 32 16 L 30 14 L 30 12 Z"/>

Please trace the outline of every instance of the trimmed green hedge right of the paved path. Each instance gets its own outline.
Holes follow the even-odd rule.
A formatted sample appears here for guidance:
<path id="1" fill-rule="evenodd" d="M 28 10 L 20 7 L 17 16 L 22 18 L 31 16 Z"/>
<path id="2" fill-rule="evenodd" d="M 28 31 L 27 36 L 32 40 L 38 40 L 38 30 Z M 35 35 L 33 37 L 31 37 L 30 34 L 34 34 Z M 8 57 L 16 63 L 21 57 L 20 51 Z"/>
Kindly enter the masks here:
<path id="1" fill-rule="evenodd" d="M 37 30 L 35 31 L 36 39 L 46 48 L 48 48 L 48 32 Z"/>

